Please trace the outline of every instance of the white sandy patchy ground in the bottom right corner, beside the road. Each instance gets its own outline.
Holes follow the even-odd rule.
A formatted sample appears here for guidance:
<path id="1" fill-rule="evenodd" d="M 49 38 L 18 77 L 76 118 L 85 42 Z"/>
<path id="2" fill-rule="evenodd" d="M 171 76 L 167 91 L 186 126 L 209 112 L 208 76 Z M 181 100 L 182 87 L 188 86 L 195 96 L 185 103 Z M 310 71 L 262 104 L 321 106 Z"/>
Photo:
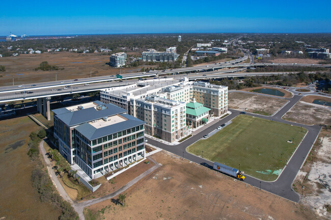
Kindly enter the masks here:
<path id="1" fill-rule="evenodd" d="M 331 218 L 331 131 L 322 130 L 295 181 L 301 202 L 316 215 Z M 304 186 L 304 188 L 302 188 Z"/>

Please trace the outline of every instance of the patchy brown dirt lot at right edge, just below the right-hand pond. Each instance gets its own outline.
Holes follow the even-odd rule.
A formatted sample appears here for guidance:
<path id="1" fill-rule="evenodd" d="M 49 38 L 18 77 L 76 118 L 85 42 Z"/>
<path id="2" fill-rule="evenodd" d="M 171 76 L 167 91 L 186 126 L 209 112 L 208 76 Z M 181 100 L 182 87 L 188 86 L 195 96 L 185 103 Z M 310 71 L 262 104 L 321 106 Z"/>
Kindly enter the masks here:
<path id="1" fill-rule="evenodd" d="M 331 108 L 299 101 L 283 118 L 304 124 L 331 124 Z"/>

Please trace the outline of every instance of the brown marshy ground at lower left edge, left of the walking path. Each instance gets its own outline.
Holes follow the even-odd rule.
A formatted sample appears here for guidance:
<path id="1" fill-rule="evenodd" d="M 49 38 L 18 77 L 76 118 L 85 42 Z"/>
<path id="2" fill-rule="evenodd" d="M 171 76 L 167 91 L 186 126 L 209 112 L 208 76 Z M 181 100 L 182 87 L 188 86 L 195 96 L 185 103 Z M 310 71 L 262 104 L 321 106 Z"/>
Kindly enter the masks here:
<path id="1" fill-rule="evenodd" d="M 0 121 L 0 219 L 58 219 L 61 211 L 40 202 L 31 183 L 36 166 L 27 156 L 27 141 L 38 126 L 29 117 Z"/>

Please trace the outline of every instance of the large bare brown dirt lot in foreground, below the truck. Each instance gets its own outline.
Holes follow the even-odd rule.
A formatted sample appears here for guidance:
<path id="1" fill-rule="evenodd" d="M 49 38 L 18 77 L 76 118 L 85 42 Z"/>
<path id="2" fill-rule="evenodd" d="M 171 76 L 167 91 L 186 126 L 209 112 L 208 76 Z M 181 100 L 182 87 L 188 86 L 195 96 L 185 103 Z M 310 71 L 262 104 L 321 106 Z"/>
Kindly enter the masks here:
<path id="1" fill-rule="evenodd" d="M 125 192 L 125 206 L 106 200 L 89 207 L 86 219 L 316 219 L 300 204 L 174 154 L 152 157 L 163 166 Z"/>

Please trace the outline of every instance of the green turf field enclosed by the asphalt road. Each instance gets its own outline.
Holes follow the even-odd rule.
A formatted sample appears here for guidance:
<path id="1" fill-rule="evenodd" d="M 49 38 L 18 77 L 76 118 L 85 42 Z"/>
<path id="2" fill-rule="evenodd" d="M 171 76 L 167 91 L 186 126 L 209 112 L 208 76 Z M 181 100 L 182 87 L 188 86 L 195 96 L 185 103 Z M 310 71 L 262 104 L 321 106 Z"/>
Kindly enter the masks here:
<path id="1" fill-rule="evenodd" d="M 280 122 L 239 115 L 225 128 L 186 150 L 250 176 L 273 181 L 305 136 L 307 130 Z M 294 142 L 288 143 L 288 140 Z M 281 155 L 282 154 L 282 155 Z"/>

